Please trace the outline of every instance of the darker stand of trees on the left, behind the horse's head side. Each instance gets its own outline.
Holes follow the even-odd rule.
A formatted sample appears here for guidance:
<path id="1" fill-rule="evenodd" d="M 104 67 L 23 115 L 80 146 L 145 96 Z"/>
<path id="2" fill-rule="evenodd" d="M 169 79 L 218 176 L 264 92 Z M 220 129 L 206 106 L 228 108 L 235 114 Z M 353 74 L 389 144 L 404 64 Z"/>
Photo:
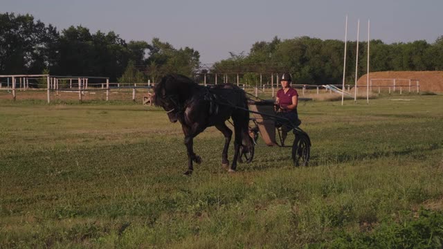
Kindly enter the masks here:
<path id="1" fill-rule="evenodd" d="M 197 50 L 177 49 L 158 38 L 126 42 L 113 31 L 91 33 L 82 26 L 59 32 L 32 15 L 0 13 L 0 75 L 49 72 L 146 82 L 165 73 L 192 76 L 199 59 Z"/>

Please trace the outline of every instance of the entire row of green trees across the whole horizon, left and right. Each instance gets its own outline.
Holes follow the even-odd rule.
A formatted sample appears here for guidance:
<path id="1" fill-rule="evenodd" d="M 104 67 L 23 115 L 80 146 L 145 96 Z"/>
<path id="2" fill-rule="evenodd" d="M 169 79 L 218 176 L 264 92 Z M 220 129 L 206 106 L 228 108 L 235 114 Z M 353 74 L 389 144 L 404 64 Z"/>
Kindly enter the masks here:
<path id="1" fill-rule="evenodd" d="M 367 42 L 359 43 L 358 75 L 366 72 Z M 235 82 L 235 73 L 248 84 L 270 82 L 271 73 L 291 73 L 298 84 L 338 84 L 343 77 L 344 42 L 334 39 L 295 37 L 256 42 L 250 51 L 230 53 L 212 68 L 201 70 L 199 52 L 174 48 L 154 38 L 126 42 L 119 35 L 71 26 L 57 31 L 32 15 L 0 13 L 0 74 L 82 75 L 109 77 L 119 82 L 156 82 L 166 73 L 193 77 L 200 73 L 224 73 Z M 356 42 L 347 44 L 346 81 L 354 82 Z M 384 44 L 370 41 L 370 71 L 443 70 L 443 36 L 433 44 L 424 40 Z M 214 77 L 214 75 L 208 75 Z"/>

